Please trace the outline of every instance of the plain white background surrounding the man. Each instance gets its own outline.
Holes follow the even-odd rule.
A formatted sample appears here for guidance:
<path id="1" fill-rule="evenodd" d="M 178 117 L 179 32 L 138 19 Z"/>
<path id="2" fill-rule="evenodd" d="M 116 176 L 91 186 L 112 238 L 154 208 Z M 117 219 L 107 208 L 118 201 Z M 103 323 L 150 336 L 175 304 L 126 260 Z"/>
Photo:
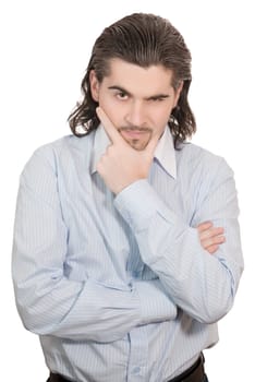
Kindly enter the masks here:
<path id="1" fill-rule="evenodd" d="M 37 336 L 17 317 L 11 282 L 19 176 L 33 151 L 70 130 L 90 49 L 102 28 L 135 11 L 169 19 L 193 55 L 193 139 L 234 169 L 245 272 L 220 343 L 206 350 L 210 382 L 253 380 L 254 331 L 254 12 L 253 1 L 5 0 L 0 4 L 1 378 L 45 382 Z M 160 382 L 160 381 L 158 381 Z"/>

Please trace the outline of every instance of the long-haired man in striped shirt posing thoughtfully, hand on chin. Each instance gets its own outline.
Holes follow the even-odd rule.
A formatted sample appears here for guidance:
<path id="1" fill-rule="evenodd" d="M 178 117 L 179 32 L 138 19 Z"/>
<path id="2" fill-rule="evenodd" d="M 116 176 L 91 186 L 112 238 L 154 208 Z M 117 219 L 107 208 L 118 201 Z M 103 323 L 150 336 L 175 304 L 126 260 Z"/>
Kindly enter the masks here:
<path id="1" fill-rule="evenodd" d="M 191 55 L 166 20 L 132 14 L 95 43 L 73 135 L 26 165 L 16 305 L 48 381 L 207 381 L 202 351 L 243 270 L 233 174 L 186 140 Z"/>

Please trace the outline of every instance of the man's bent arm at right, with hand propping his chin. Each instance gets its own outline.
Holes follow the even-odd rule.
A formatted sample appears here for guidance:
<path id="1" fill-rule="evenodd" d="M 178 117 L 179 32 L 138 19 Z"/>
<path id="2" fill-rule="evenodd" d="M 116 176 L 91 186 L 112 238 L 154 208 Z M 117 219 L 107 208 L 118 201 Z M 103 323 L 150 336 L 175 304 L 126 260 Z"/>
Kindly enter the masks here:
<path id="1" fill-rule="evenodd" d="M 218 321 L 233 305 L 243 268 L 231 169 L 223 159 L 210 159 L 202 186 L 205 199 L 193 216 L 193 223 L 204 222 L 197 236 L 146 180 L 159 136 L 153 134 L 143 151 L 135 151 L 100 108 L 97 112 L 111 140 L 97 169 L 117 194 L 116 207 L 133 230 L 143 262 L 158 275 L 177 307 L 201 322 Z"/>

